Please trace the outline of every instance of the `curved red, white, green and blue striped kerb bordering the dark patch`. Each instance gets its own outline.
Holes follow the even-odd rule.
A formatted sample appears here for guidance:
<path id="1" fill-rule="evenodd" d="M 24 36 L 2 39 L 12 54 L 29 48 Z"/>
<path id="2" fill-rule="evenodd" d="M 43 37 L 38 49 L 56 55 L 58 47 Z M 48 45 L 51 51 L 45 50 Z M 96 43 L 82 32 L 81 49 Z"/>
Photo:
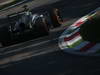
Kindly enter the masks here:
<path id="1" fill-rule="evenodd" d="M 91 55 L 100 53 L 100 43 L 84 40 L 80 32 L 82 26 L 86 25 L 88 22 L 91 22 L 91 19 L 95 21 L 97 17 L 99 17 L 100 20 L 100 8 L 97 8 L 86 16 L 80 18 L 74 24 L 70 25 L 59 37 L 59 47 L 65 52 L 74 54 Z M 82 32 L 84 32 L 84 30 Z M 88 34 L 88 32 L 85 33 Z"/>

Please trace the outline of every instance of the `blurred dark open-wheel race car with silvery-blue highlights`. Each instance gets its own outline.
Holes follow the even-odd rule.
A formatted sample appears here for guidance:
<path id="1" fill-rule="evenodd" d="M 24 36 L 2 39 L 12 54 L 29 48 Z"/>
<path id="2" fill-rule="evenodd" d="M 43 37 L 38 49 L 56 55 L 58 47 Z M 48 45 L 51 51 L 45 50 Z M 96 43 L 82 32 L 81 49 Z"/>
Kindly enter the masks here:
<path id="1" fill-rule="evenodd" d="M 0 26 L 1 47 L 49 34 L 51 26 L 61 26 L 58 9 L 32 14 L 29 9 L 7 15 L 8 23 Z"/>

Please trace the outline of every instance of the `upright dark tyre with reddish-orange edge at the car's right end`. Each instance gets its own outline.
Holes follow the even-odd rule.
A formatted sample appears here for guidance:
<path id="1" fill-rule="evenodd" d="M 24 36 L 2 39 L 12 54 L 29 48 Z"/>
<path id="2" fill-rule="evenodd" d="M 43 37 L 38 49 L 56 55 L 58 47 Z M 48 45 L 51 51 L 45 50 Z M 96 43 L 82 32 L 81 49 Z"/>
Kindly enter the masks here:
<path id="1" fill-rule="evenodd" d="M 53 8 L 48 13 L 50 15 L 50 19 L 54 28 L 62 25 L 63 20 L 59 9 Z"/>

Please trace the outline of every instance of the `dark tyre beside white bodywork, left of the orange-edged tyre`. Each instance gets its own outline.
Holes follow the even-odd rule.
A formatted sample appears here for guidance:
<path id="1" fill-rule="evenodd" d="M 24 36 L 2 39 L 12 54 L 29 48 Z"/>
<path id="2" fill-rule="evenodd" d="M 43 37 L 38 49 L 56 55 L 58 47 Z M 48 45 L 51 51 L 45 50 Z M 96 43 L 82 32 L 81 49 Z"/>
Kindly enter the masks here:
<path id="1" fill-rule="evenodd" d="M 36 32 L 39 33 L 39 35 L 48 35 L 49 34 L 49 27 L 47 25 L 47 21 L 45 18 L 39 18 L 36 21 L 35 29 Z"/>

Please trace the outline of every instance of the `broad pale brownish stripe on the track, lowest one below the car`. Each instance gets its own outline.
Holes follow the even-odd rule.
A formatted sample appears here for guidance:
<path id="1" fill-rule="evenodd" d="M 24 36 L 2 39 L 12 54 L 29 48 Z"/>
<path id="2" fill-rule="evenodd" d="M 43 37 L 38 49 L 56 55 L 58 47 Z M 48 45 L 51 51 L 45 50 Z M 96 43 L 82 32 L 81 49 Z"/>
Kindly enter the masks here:
<path id="1" fill-rule="evenodd" d="M 49 51 L 43 51 L 43 52 L 35 53 L 35 54 L 34 54 L 34 52 L 27 52 L 27 53 L 22 53 L 22 54 L 10 56 L 10 57 L 7 57 L 5 59 L 0 60 L 0 65 L 5 66 L 6 64 L 9 64 L 10 62 L 17 62 L 20 60 L 25 60 L 25 59 L 31 58 L 33 56 L 39 56 L 39 55 L 43 55 L 46 53 L 51 53 L 53 51 L 54 50 L 49 50 Z"/>

